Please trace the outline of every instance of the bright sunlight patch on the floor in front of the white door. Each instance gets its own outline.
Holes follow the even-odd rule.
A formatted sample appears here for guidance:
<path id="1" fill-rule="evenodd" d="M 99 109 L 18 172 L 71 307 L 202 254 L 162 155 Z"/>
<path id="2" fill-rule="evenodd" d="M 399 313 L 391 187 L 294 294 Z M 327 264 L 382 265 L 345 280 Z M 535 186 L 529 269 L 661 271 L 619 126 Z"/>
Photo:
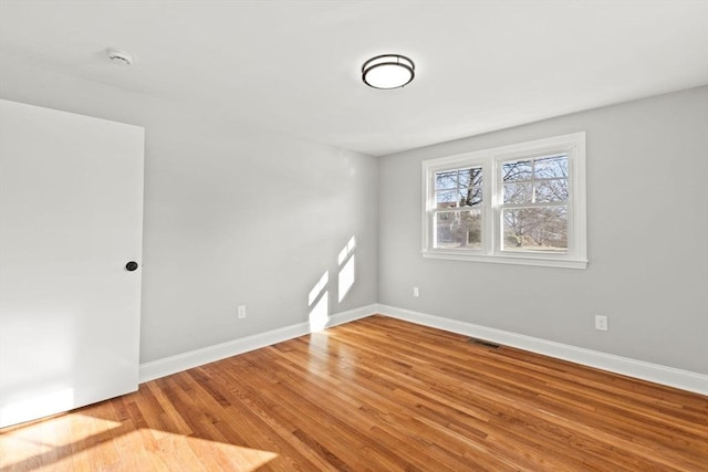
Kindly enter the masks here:
<path id="1" fill-rule="evenodd" d="M 69 415 L 12 430 L 0 440 L 0 469 L 254 472 L 278 458 L 275 452 L 159 429 L 112 431 L 127 426 Z"/>

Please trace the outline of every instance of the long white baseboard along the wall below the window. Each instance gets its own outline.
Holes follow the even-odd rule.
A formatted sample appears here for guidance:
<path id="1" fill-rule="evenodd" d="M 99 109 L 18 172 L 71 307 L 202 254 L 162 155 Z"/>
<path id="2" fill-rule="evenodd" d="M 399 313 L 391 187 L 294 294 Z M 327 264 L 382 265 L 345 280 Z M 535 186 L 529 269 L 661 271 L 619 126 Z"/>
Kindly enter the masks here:
<path id="1" fill-rule="evenodd" d="M 628 377 L 639 378 L 683 390 L 708 395 L 708 376 L 615 356 L 597 350 L 570 346 L 537 337 L 524 336 L 517 333 L 489 328 L 457 319 L 444 318 L 395 306 L 378 304 L 378 313 L 393 318 L 404 319 L 424 326 L 445 329 L 452 333 L 468 335 L 480 339 L 491 340 L 506 346 L 517 347 L 545 356 L 555 357 L 572 363 L 622 374 Z"/>

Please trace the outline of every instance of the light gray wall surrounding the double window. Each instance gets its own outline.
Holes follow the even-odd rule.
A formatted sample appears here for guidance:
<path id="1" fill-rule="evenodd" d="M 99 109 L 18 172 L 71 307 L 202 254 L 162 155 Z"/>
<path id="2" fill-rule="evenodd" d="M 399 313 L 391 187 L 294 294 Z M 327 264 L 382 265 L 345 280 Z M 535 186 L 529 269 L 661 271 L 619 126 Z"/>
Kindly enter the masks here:
<path id="1" fill-rule="evenodd" d="M 421 258 L 421 160 L 581 130 L 587 270 Z M 707 176 L 708 87 L 383 157 L 378 300 L 706 374 Z M 595 314 L 608 332 L 594 329 Z"/>

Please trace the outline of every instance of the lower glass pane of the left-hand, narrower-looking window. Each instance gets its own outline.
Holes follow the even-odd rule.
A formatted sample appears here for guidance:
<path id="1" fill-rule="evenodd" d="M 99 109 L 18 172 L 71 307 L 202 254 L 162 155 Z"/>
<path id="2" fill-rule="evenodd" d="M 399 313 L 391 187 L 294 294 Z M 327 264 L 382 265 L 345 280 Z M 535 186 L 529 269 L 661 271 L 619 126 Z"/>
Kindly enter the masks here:
<path id="1" fill-rule="evenodd" d="M 445 211 L 435 216 L 436 248 L 481 248 L 481 210 Z"/>

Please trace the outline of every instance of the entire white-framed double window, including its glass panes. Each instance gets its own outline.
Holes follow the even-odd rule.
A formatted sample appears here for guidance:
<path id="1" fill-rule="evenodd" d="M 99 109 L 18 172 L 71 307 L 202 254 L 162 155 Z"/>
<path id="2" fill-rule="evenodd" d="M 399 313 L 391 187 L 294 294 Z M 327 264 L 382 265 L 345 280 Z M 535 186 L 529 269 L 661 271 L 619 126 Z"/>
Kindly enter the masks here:
<path id="1" fill-rule="evenodd" d="M 423 255 L 585 269 L 585 133 L 423 162 Z"/>

